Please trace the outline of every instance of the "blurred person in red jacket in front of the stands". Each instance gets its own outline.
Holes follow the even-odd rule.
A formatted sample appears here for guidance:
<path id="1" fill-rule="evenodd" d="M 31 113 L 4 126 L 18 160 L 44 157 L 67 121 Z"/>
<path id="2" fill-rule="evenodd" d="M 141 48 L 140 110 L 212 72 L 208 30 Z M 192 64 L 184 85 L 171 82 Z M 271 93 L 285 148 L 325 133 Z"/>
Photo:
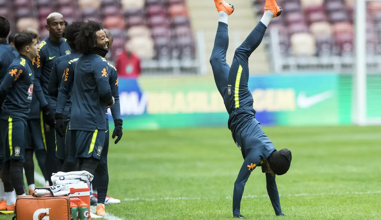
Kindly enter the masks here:
<path id="1" fill-rule="evenodd" d="M 137 78 L 140 75 L 140 58 L 131 51 L 131 43 L 127 42 L 123 52 L 117 58 L 118 76 Z"/>

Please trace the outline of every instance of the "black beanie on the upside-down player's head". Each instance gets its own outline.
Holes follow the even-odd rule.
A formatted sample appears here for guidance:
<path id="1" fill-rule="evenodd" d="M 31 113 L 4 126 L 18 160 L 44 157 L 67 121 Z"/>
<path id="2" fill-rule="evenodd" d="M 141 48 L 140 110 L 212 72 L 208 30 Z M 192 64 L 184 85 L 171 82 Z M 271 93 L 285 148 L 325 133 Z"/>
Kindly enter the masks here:
<path id="1" fill-rule="evenodd" d="M 274 151 L 267 161 L 271 170 L 276 175 L 283 175 L 287 173 L 291 165 L 291 151 L 288 149 L 281 149 L 280 151 Z"/>

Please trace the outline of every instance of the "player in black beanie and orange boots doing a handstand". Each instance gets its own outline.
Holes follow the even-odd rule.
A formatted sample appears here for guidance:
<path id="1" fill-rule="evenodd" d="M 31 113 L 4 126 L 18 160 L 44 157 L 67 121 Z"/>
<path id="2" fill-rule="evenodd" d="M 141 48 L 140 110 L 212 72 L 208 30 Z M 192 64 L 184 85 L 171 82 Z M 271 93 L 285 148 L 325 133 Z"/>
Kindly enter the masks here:
<path id="1" fill-rule="evenodd" d="M 255 118 L 253 96 L 248 88 L 248 59 L 261 43 L 263 35 L 272 18 L 279 16 L 282 10 L 275 0 L 266 0 L 264 15 L 246 40 L 235 50 L 231 67 L 226 63 L 226 51 L 229 44 L 227 20 L 234 7 L 224 0 L 215 0 L 219 12 L 218 29 L 215 45 L 210 57 L 215 82 L 224 99 L 229 113 L 228 127 L 233 139 L 242 151 L 244 162 L 234 183 L 233 217 L 245 218 L 240 213 L 243 189 L 250 173 L 262 167 L 266 173 L 267 192 L 276 215 L 284 215 L 280 208 L 279 193 L 275 183 L 275 175 L 283 175 L 290 168 L 291 151 L 277 151 L 273 143 L 263 132 Z"/>

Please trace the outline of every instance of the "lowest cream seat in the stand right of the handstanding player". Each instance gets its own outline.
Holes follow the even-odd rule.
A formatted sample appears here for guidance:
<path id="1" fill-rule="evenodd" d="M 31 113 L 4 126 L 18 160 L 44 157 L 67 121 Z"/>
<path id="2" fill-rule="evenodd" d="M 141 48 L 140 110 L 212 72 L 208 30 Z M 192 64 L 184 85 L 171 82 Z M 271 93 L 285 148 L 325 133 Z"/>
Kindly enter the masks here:
<path id="1" fill-rule="evenodd" d="M 294 56 L 313 56 L 315 53 L 315 39 L 312 34 L 293 34 L 291 36 L 291 45 Z"/>

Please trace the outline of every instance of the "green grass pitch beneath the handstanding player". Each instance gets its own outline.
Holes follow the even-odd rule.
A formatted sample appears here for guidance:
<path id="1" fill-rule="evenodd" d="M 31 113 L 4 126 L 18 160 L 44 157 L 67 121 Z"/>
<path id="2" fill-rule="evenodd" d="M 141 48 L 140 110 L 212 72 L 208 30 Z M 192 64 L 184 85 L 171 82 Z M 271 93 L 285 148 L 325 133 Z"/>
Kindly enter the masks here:
<path id="1" fill-rule="evenodd" d="M 257 168 L 242 199 L 248 219 L 381 219 L 381 127 L 264 131 L 293 154 L 277 177 L 287 216 L 275 216 Z M 110 139 L 108 161 L 108 194 L 122 203 L 107 206 L 106 219 L 232 219 L 243 159 L 227 128 L 125 131 L 118 145 Z"/>

